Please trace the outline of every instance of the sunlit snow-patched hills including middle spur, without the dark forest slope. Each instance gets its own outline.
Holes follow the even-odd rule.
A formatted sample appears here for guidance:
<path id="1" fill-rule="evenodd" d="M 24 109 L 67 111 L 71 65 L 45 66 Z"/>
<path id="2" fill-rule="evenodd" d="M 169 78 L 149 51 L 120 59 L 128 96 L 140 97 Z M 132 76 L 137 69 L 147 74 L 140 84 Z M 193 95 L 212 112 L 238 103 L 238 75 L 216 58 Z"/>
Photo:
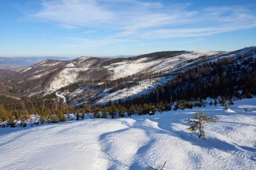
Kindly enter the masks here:
<path id="1" fill-rule="evenodd" d="M 237 62 L 247 63 L 243 58 L 248 57 L 256 57 L 256 47 L 231 52 L 164 51 L 128 58 L 82 56 L 73 60 L 43 60 L 18 73 L 3 71 L 2 75 L 7 76 L 11 93 L 19 96 L 56 97 L 57 94 L 72 105 L 89 101 L 107 103 L 147 95 L 170 82 L 174 75 L 204 63 L 220 58 L 234 62 L 242 58 Z M 11 95 L 10 91 L 5 92 Z"/>

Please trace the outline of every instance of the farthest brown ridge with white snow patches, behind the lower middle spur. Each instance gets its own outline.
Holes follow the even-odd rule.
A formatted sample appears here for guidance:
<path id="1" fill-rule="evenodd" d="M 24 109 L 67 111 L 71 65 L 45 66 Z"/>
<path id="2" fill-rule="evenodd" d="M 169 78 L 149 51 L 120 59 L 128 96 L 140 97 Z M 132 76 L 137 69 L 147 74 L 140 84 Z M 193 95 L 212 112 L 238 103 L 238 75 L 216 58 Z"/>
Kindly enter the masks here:
<path id="1" fill-rule="evenodd" d="M 129 76 L 171 74 L 222 57 L 246 57 L 255 54 L 256 47 L 249 47 L 232 52 L 166 51 L 131 58 L 82 56 L 66 61 L 44 60 L 20 71 L 11 80 L 27 88 L 22 95 L 48 95 L 79 81 L 115 81 Z"/>

